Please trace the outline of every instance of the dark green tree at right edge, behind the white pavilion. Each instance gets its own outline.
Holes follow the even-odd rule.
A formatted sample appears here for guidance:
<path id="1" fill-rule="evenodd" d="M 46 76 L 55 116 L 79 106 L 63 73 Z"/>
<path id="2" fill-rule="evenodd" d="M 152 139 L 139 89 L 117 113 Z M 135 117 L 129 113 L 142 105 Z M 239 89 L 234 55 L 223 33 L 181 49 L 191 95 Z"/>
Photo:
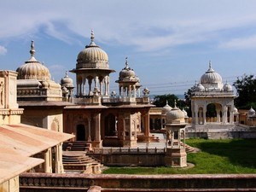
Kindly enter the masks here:
<path id="1" fill-rule="evenodd" d="M 237 90 L 235 105 L 237 108 L 256 108 L 256 79 L 253 75 L 244 74 L 233 84 Z"/>

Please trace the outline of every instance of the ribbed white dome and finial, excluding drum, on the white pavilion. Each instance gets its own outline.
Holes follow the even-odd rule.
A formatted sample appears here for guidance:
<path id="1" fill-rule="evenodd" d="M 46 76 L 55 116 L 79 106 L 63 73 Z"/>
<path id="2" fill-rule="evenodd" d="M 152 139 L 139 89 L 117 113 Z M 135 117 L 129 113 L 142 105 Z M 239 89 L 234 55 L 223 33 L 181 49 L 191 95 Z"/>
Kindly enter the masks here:
<path id="1" fill-rule="evenodd" d="M 207 72 L 201 76 L 201 84 L 222 84 L 222 78 L 213 70 L 211 62 Z"/>

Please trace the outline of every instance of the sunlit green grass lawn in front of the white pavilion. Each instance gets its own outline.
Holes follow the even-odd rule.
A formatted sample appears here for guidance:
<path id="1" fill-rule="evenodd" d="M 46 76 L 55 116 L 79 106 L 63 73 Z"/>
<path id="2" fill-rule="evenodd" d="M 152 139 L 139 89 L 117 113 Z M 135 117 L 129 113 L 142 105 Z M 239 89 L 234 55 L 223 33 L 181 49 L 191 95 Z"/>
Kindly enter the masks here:
<path id="1" fill-rule="evenodd" d="M 203 173 L 256 173 L 256 139 L 189 139 L 190 146 L 201 152 L 188 154 L 192 168 L 109 167 L 108 174 L 203 174 Z"/>

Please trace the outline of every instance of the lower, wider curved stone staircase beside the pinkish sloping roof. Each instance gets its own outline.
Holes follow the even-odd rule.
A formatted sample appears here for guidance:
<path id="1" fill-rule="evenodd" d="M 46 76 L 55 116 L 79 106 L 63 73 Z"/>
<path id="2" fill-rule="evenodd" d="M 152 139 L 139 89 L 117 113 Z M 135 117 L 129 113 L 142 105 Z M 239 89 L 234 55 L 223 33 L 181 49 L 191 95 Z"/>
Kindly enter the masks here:
<path id="1" fill-rule="evenodd" d="M 101 173 L 102 164 L 82 151 L 63 151 L 62 161 L 65 172 Z"/>

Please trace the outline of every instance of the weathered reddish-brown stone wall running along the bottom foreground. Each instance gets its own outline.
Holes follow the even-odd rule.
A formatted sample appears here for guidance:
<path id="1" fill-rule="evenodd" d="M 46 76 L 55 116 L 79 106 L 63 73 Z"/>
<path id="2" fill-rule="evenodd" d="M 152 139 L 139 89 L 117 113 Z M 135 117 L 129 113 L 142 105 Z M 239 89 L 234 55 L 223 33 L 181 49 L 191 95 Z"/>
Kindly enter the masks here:
<path id="1" fill-rule="evenodd" d="M 102 191 L 256 191 L 256 175 L 20 175 L 20 192 L 80 192 L 95 185 Z"/>

